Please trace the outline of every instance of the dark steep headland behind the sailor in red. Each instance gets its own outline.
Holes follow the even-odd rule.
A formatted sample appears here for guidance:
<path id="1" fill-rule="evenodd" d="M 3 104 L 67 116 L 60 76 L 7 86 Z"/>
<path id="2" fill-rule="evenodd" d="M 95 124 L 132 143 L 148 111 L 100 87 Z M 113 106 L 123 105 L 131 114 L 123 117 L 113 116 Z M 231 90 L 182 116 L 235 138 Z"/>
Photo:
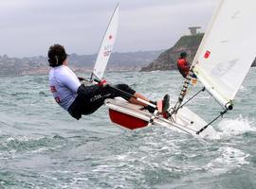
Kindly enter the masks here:
<path id="1" fill-rule="evenodd" d="M 150 72 L 155 70 L 174 70 L 177 69 L 176 60 L 180 52 L 186 51 L 188 53 L 188 60 L 192 62 L 196 54 L 204 34 L 199 33 L 196 35 L 182 36 L 174 46 L 162 54 L 153 62 L 140 69 L 141 72 Z M 256 60 L 253 61 L 252 66 L 256 66 Z"/>

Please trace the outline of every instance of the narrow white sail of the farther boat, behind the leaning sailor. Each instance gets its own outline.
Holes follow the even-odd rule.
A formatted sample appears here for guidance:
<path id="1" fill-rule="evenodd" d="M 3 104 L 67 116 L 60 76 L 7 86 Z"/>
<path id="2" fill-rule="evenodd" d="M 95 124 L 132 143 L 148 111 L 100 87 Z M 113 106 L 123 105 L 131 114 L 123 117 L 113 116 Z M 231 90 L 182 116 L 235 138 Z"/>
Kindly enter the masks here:
<path id="1" fill-rule="evenodd" d="M 100 80 L 103 77 L 105 68 L 107 66 L 107 62 L 112 53 L 114 43 L 117 38 L 118 25 L 119 25 L 119 4 L 117 5 L 111 17 L 109 25 L 105 31 L 105 34 L 101 43 L 100 51 L 94 65 L 92 77 L 95 76 Z"/>

